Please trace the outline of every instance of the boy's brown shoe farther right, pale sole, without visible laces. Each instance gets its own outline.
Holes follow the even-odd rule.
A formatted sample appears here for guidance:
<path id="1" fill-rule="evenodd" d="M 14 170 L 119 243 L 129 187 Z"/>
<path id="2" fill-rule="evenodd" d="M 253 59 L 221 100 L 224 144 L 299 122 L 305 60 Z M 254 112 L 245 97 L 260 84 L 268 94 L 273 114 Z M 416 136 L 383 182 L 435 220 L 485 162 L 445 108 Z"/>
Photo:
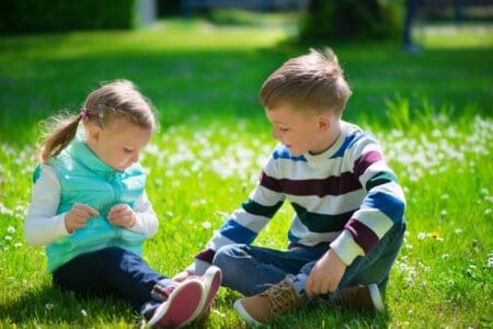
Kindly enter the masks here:
<path id="1" fill-rule="evenodd" d="M 347 308 L 385 310 L 383 300 L 376 284 L 347 286 L 332 302 Z"/>

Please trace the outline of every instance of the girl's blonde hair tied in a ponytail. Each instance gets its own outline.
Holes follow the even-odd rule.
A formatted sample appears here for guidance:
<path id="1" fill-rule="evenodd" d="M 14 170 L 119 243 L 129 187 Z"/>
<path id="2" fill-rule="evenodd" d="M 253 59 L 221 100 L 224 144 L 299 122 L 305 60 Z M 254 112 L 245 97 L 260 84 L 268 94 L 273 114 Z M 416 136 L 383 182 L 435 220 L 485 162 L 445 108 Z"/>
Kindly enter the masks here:
<path id="1" fill-rule="evenodd" d="M 79 115 L 56 115 L 47 122 L 38 151 L 38 158 L 46 163 L 58 156 L 76 137 L 79 123 L 96 124 L 105 127 L 125 118 L 146 129 L 158 129 L 152 104 L 128 80 L 115 80 L 92 91 L 85 99 Z"/>

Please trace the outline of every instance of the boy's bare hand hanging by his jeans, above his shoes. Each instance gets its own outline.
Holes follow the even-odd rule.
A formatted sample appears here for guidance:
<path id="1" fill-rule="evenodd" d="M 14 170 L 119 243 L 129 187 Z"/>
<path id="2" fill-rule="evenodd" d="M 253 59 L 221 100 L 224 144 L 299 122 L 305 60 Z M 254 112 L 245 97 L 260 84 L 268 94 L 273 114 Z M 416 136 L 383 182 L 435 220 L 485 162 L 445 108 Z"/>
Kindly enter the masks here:
<path id="1" fill-rule="evenodd" d="M 308 275 L 306 291 L 309 297 L 332 293 L 346 271 L 346 264 L 339 256 L 329 250 L 313 266 Z"/>

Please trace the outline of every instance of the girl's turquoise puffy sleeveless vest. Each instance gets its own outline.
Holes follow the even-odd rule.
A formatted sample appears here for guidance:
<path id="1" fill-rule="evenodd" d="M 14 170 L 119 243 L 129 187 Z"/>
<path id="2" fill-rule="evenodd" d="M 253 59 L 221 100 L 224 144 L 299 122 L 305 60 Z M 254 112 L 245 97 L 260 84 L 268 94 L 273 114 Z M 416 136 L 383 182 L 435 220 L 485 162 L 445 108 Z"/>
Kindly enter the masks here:
<path id="1" fill-rule="evenodd" d="M 146 173 L 139 164 L 123 172 L 115 171 L 88 148 L 80 135 L 48 164 L 56 169 L 60 181 L 57 215 L 69 212 L 74 203 L 87 204 L 100 213 L 98 217 L 90 217 L 83 228 L 46 246 L 49 272 L 81 253 L 106 247 L 121 247 L 141 256 L 146 235 L 113 226 L 106 219 L 113 206 L 128 204 L 133 207 L 144 192 Z M 36 171 L 34 180 L 39 174 L 38 169 Z"/>

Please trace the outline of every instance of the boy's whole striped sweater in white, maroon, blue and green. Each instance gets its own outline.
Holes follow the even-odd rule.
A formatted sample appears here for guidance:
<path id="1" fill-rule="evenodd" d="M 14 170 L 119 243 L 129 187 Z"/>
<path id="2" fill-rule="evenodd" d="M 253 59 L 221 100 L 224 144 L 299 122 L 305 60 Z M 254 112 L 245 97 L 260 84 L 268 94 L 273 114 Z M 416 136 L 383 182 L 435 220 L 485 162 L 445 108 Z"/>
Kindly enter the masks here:
<path id="1" fill-rule="evenodd" d="M 403 220 L 405 207 L 402 189 L 377 140 L 342 122 L 341 136 L 321 155 L 294 157 L 279 144 L 249 200 L 196 260 L 210 263 L 222 246 L 252 243 L 286 198 L 295 209 L 289 246 L 330 243 L 346 265 Z"/>

